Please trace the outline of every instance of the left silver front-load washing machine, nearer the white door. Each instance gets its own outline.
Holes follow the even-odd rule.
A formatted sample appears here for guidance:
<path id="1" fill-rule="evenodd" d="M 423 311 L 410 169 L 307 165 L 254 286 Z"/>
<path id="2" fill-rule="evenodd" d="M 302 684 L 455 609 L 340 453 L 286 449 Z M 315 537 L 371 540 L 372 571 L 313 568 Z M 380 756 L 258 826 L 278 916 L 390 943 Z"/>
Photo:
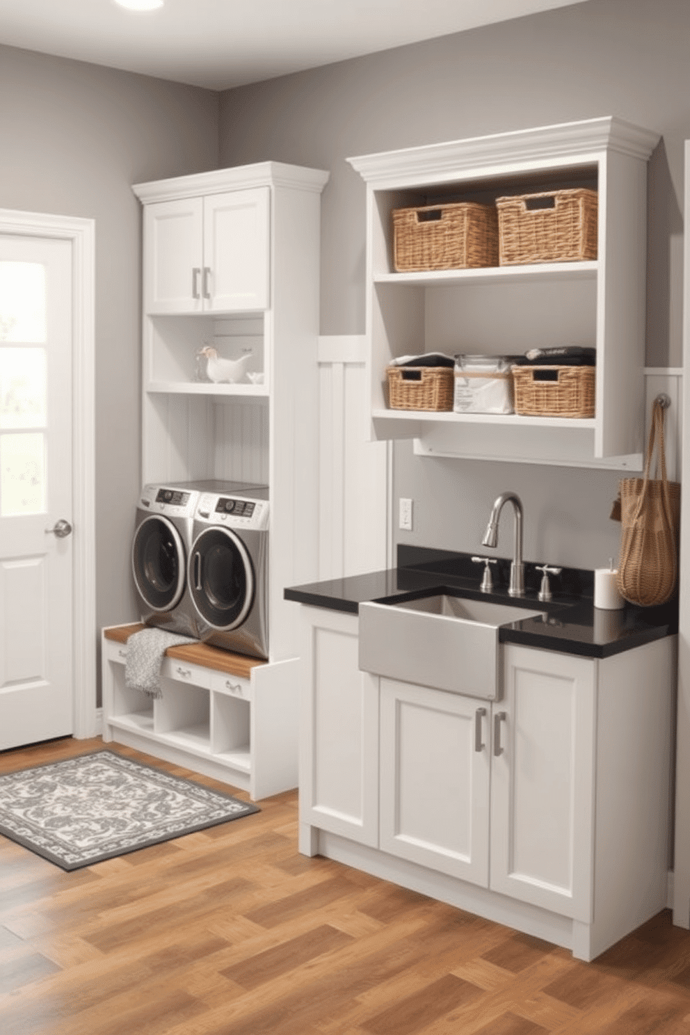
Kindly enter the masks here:
<path id="1" fill-rule="evenodd" d="M 145 485 L 137 505 L 131 570 L 141 619 L 171 632 L 200 638 L 187 590 L 192 523 L 203 492 L 253 490 L 248 482 L 171 481 Z"/>

